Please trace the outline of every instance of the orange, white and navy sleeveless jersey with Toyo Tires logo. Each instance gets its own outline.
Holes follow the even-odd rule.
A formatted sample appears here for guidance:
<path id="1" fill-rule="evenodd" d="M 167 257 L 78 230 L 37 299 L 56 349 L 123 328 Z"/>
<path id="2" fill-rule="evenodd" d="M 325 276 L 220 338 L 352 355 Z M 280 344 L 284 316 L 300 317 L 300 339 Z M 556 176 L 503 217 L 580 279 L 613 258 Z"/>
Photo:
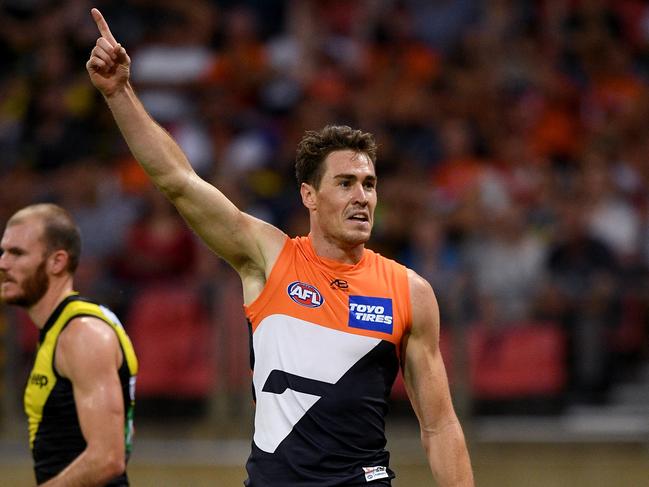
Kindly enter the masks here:
<path id="1" fill-rule="evenodd" d="M 354 265 L 287 239 L 251 332 L 249 487 L 390 485 L 388 397 L 411 326 L 407 269 L 365 249 Z"/>

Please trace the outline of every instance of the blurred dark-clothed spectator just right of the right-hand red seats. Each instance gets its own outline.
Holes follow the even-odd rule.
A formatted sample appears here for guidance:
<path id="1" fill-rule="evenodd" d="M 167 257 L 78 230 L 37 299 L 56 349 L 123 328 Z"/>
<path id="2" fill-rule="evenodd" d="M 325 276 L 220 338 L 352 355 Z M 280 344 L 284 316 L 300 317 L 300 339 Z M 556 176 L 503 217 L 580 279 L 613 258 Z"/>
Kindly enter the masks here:
<path id="1" fill-rule="evenodd" d="M 601 402 L 611 381 L 611 330 L 619 324 L 619 266 L 589 233 L 583 199 L 567 197 L 546 262 L 551 295 L 569 339 L 571 399 Z"/>

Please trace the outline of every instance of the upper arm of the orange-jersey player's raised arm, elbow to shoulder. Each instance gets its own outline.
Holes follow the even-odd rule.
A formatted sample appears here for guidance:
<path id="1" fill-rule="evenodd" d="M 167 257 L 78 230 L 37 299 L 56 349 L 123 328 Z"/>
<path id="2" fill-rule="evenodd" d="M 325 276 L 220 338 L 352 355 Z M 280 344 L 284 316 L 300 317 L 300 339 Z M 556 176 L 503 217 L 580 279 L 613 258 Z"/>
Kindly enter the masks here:
<path id="1" fill-rule="evenodd" d="M 274 226 L 242 212 L 196 174 L 171 201 L 205 244 L 237 270 L 250 264 L 266 270 L 286 238 Z"/>

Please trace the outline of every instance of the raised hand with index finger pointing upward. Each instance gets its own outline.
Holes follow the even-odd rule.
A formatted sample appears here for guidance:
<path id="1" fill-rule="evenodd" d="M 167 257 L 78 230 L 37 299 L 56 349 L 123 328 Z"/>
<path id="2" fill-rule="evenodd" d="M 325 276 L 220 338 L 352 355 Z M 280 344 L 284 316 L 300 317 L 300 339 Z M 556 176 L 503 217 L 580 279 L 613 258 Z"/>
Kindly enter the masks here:
<path id="1" fill-rule="evenodd" d="M 128 82 L 131 58 L 113 37 L 101 12 L 93 8 L 91 14 L 101 36 L 90 53 L 86 69 L 92 84 L 104 96 L 111 96 Z"/>

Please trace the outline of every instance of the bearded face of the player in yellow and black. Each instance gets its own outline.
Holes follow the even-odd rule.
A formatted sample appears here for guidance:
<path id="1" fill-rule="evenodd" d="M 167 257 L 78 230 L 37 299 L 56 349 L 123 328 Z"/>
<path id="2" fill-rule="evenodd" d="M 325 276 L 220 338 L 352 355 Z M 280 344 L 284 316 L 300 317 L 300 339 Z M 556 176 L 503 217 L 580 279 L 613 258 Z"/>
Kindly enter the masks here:
<path id="1" fill-rule="evenodd" d="M 41 233 L 41 225 L 31 221 L 8 226 L 2 236 L 0 298 L 7 304 L 29 308 L 47 291 L 49 277 Z"/>

